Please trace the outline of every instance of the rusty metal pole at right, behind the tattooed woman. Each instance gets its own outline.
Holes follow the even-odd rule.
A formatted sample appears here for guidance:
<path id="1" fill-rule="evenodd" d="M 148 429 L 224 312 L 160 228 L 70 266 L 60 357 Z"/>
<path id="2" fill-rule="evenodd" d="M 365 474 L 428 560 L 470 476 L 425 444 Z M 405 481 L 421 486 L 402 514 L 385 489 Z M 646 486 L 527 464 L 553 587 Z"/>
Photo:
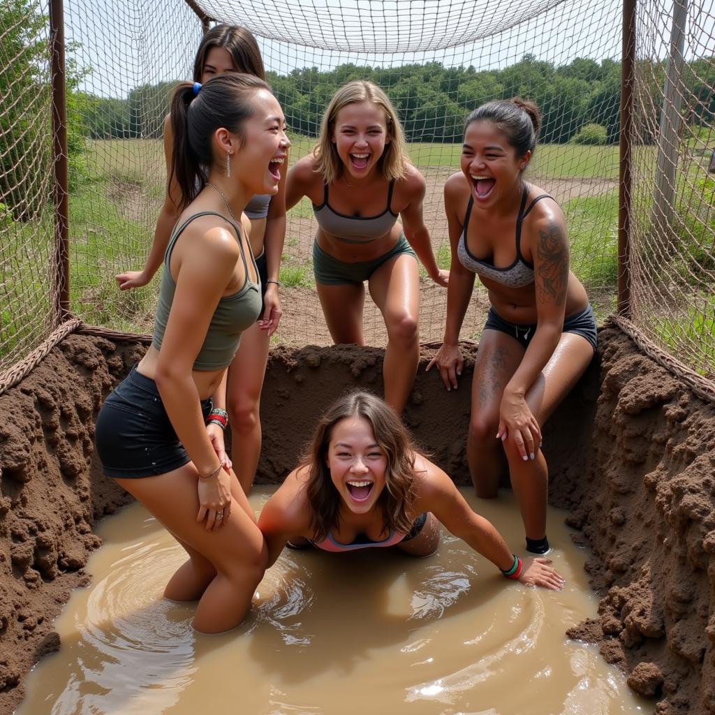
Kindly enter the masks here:
<path id="1" fill-rule="evenodd" d="M 621 49 L 621 141 L 618 167 L 618 315 L 631 317 L 631 149 L 633 79 L 636 66 L 636 2 L 623 1 Z"/>

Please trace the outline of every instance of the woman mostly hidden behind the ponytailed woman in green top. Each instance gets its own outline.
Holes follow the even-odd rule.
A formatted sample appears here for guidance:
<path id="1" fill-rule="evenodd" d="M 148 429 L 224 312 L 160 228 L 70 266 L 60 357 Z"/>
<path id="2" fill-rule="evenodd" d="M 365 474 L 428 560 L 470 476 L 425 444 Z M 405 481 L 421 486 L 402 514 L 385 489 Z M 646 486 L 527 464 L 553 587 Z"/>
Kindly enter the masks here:
<path id="1" fill-rule="evenodd" d="M 204 35 L 199 45 L 194 59 L 194 82 L 207 82 L 210 77 L 235 71 L 265 80 L 263 61 L 254 36 L 240 26 L 217 25 Z M 172 128 L 167 117 L 164 120 L 167 177 L 174 153 L 173 144 Z M 282 313 L 278 297 L 278 275 L 285 239 L 285 169 L 287 163 L 281 170 L 279 190 L 275 196 L 258 194 L 252 197 L 244 209 L 251 223 L 251 250 L 256 257 L 261 279 L 263 306 L 260 319 L 244 331 L 240 349 L 229 370 L 227 404 L 216 405 L 228 410 L 232 438 L 231 456 L 246 492 L 253 483 L 261 451 L 259 408 L 270 336 L 277 329 Z M 199 180 L 195 192 L 201 188 L 202 183 Z M 171 182 L 157 220 L 152 250 L 144 270 L 117 275 L 117 283 L 122 290 L 147 285 L 162 265 L 172 227 L 179 217 L 176 190 L 175 182 Z M 215 439 L 222 440 L 223 435 L 218 433 L 220 430 L 217 427 L 212 426 L 209 430 L 216 433 Z"/>

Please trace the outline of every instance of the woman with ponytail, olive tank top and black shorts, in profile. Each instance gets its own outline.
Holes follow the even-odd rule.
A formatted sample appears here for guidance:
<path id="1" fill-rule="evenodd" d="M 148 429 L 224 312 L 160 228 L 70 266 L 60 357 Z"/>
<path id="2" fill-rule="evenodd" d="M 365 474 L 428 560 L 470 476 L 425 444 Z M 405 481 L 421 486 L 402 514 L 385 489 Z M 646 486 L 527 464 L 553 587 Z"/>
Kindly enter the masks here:
<path id="1" fill-rule="evenodd" d="M 164 256 L 154 336 L 102 406 L 97 452 L 104 473 L 187 551 L 164 596 L 198 601 L 194 627 L 220 633 L 250 608 L 266 549 L 206 423 L 225 423 L 211 398 L 261 310 L 240 212 L 255 194 L 278 192 L 290 142 L 267 84 L 247 74 L 179 84 L 170 117 L 180 213 Z"/>

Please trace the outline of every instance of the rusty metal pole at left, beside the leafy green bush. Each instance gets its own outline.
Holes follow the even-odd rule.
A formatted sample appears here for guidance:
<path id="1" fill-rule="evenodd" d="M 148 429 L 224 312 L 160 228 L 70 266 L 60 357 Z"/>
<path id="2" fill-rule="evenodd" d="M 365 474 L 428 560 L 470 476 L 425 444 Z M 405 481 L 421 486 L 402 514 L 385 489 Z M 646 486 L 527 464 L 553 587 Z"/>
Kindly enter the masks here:
<path id="1" fill-rule="evenodd" d="M 64 4 L 49 0 L 52 66 L 52 167 L 54 170 L 54 317 L 69 316 L 69 170 L 64 66 Z"/>

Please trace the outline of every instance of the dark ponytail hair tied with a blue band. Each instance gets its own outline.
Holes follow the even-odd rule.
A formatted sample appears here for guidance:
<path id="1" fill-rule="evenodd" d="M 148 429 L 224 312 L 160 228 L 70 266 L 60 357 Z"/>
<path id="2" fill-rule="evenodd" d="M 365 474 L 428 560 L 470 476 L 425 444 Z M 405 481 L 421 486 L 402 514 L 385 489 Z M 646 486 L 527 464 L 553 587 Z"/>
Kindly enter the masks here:
<path id="1" fill-rule="evenodd" d="M 227 129 L 243 138 L 243 125 L 253 116 L 253 97 L 270 87 L 252 74 L 220 74 L 197 86 L 180 82 L 174 89 L 169 117 L 174 146 L 169 184 L 172 179 L 181 192 L 182 211 L 204 188 L 207 167 L 214 164 L 213 136 Z"/>

